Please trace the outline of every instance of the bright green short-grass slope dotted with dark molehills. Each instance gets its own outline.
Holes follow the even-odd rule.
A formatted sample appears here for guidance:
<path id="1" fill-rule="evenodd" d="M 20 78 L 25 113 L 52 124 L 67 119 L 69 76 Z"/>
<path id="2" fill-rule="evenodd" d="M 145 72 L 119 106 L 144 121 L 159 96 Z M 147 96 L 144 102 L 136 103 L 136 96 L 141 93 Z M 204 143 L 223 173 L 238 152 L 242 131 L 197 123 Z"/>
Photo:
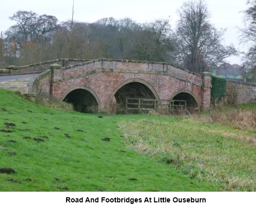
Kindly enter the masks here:
<path id="1" fill-rule="evenodd" d="M 16 172 L 0 173 L 0 191 L 218 191 L 125 145 L 121 122 L 158 117 L 98 116 L 42 107 L 0 89 L 0 130 L 11 131 L 0 131 L 0 168 Z"/>

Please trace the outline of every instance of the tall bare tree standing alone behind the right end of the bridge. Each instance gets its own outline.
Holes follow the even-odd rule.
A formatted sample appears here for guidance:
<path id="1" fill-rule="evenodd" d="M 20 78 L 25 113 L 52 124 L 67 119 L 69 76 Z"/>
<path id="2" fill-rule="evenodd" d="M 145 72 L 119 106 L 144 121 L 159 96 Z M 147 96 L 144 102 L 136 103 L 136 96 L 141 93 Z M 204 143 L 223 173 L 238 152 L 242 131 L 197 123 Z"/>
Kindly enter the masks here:
<path id="1" fill-rule="evenodd" d="M 178 14 L 174 56 L 176 62 L 189 71 L 209 71 L 225 58 L 238 54 L 232 44 L 225 47 L 221 43 L 225 30 L 217 30 L 210 24 L 210 14 L 203 0 L 185 2 Z"/>

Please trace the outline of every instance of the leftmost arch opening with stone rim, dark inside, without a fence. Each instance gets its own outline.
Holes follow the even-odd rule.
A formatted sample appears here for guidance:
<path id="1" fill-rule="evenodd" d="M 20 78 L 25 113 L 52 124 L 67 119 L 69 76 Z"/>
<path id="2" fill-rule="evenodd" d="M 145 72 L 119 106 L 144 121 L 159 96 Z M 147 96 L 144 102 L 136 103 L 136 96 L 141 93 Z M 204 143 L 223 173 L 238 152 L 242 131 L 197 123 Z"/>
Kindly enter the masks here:
<path id="1" fill-rule="evenodd" d="M 84 113 L 97 113 L 99 99 L 94 91 L 85 86 L 74 86 L 62 96 L 62 101 L 71 103 L 76 111 Z"/>

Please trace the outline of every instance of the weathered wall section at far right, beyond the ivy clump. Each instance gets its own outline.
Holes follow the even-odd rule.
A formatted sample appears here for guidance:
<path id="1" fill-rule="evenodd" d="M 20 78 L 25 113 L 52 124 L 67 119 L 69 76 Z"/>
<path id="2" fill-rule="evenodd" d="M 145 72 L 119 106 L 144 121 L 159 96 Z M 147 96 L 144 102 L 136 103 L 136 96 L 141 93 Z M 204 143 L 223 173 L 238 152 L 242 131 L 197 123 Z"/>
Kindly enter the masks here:
<path id="1" fill-rule="evenodd" d="M 226 94 L 236 94 L 237 103 L 256 102 L 256 84 L 227 80 Z"/>

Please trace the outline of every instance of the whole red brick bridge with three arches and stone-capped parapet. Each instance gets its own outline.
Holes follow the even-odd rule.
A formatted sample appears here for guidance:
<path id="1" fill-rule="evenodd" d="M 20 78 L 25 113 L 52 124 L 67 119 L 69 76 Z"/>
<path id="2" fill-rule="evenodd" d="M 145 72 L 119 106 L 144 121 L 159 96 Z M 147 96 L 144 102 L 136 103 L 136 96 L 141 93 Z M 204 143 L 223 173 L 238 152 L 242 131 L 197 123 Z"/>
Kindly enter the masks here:
<path id="1" fill-rule="evenodd" d="M 67 65 L 67 64 L 66 64 Z M 73 103 L 75 110 L 111 112 L 125 98 L 186 100 L 188 108 L 210 107 L 211 76 L 167 63 L 98 59 L 63 67 L 52 64 L 29 84 L 29 93 Z"/>

